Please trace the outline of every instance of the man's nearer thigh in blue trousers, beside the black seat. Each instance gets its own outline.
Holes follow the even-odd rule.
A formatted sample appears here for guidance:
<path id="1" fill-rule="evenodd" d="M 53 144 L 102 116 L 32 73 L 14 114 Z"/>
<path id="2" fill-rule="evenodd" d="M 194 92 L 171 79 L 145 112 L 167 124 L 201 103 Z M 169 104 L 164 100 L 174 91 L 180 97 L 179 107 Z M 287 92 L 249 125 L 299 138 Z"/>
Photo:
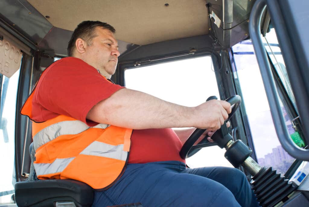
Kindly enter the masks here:
<path id="1" fill-rule="evenodd" d="M 222 184 L 203 176 L 180 173 L 180 162 L 128 165 L 111 188 L 95 192 L 94 206 L 141 202 L 143 206 L 240 206 Z"/>

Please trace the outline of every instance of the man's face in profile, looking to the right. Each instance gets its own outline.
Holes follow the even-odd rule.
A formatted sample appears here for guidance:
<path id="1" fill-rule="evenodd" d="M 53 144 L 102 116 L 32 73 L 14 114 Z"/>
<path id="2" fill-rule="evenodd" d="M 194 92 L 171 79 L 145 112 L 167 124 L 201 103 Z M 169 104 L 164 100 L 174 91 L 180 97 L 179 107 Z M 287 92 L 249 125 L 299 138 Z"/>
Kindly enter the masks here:
<path id="1" fill-rule="evenodd" d="M 96 37 L 92 44 L 85 49 L 85 61 L 99 70 L 100 73 L 110 78 L 116 71 L 118 62 L 117 41 L 111 31 L 100 27 L 96 28 Z"/>

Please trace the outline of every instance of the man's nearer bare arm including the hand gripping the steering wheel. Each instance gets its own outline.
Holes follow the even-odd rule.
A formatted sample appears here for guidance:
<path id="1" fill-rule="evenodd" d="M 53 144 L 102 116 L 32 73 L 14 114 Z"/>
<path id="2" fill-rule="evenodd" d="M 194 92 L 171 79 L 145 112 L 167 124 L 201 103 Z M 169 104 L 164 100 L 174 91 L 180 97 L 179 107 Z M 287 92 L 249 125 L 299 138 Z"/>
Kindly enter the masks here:
<path id="1" fill-rule="evenodd" d="M 214 131 L 230 112 L 231 105 L 226 101 L 210 100 L 186 107 L 123 88 L 96 104 L 87 119 L 131 129 L 196 127 Z"/>

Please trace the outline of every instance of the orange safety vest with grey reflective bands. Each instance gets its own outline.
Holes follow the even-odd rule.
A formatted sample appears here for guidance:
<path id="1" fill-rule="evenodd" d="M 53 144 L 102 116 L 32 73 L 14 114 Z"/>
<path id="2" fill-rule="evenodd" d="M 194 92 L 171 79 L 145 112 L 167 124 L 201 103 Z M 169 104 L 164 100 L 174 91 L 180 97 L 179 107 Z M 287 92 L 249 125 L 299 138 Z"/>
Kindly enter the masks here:
<path id="1" fill-rule="evenodd" d="M 30 119 L 35 89 L 21 109 Z M 125 171 L 131 134 L 132 129 L 107 124 L 89 127 L 64 115 L 41 123 L 32 120 L 36 175 L 42 180 L 79 180 L 105 190 Z"/>

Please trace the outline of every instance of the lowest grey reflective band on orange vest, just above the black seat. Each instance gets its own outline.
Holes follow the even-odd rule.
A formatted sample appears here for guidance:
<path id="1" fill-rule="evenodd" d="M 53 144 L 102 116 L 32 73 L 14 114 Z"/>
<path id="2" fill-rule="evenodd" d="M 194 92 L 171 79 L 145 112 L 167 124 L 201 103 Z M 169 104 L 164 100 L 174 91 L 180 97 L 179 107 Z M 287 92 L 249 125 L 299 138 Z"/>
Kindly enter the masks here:
<path id="1" fill-rule="evenodd" d="M 33 163 L 33 165 L 37 175 L 52 174 L 62 172 L 74 158 L 55 159 L 53 163 Z"/>

